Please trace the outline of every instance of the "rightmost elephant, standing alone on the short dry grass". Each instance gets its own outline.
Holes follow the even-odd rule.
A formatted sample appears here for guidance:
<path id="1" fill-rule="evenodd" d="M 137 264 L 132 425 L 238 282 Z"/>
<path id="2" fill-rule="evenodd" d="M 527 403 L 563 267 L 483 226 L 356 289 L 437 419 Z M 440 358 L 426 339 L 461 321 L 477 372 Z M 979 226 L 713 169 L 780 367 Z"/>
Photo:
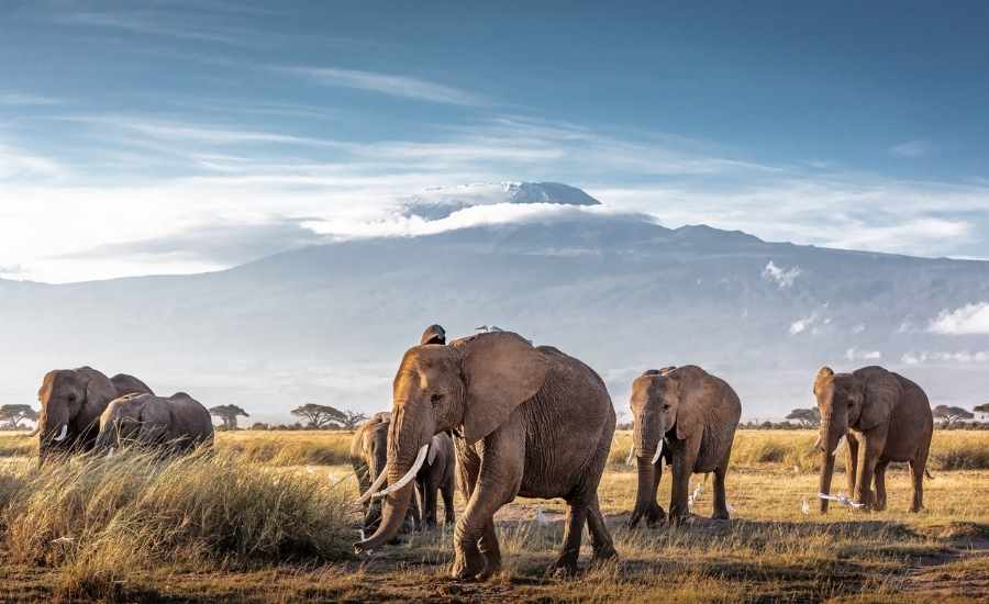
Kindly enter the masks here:
<path id="1" fill-rule="evenodd" d="M 923 510 L 924 473 L 934 434 L 931 403 L 923 389 L 878 366 L 852 373 L 835 373 L 830 367 L 822 367 L 814 378 L 814 396 L 821 411 L 815 448 L 824 456 L 821 494 L 831 494 L 834 457 L 841 441 L 847 438 L 845 473 L 855 507 L 885 510 L 886 467 L 890 461 L 908 461 L 913 479 L 910 511 Z M 821 513 L 826 512 L 827 500 L 821 497 Z"/>

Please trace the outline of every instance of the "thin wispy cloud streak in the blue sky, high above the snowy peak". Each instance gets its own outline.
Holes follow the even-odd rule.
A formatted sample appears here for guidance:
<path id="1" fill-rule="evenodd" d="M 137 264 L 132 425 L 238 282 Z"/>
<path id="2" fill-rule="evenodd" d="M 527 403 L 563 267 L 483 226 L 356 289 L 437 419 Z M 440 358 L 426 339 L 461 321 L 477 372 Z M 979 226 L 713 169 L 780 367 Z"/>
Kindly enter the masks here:
<path id="1" fill-rule="evenodd" d="M 411 76 L 333 67 L 277 67 L 275 69 L 282 74 L 302 77 L 321 86 L 380 92 L 391 97 L 433 103 L 466 107 L 491 104 L 480 94 Z"/>

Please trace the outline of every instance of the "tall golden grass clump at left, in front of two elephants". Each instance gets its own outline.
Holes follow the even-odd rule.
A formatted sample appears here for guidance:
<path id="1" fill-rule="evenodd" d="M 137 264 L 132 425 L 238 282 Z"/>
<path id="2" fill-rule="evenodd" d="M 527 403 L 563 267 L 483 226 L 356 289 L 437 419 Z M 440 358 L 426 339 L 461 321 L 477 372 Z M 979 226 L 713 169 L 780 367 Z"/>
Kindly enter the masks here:
<path id="1" fill-rule="evenodd" d="M 112 597 L 123 578 L 155 564 L 348 556 L 344 492 L 231 454 L 160 459 L 124 450 L 8 468 L 0 470 L 2 549 L 14 561 L 60 569 L 65 597 Z"/>

